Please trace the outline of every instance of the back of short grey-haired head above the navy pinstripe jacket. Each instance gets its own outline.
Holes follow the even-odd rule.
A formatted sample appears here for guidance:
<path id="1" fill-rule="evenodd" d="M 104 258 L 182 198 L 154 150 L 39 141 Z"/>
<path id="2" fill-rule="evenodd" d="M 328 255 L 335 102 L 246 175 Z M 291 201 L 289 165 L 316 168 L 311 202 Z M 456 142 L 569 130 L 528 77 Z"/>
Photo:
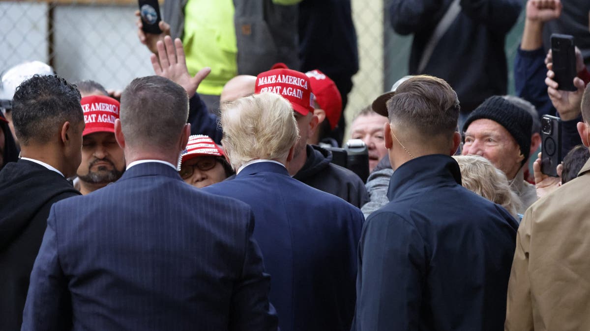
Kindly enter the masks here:
<path id="1" fill-rule="evenodd" d="M 159 76 L 135 78 L 121 94 L 120 121 L 130 148 L 169 151 L 188 120 L 188 95 Z"/>

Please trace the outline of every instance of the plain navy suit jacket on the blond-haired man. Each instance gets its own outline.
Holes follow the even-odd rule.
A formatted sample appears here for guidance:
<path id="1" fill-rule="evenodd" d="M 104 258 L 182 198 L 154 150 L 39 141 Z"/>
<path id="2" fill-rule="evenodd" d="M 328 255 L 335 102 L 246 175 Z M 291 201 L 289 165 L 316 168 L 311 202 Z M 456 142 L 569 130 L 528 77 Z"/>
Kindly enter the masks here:
<path id="1" fill-rule="evenodd" d="M 234 180 L 204 190 L 252 207 L 281 330 L 350 329 L 364 220 L 358 208 L 271 162 L 251 164 Z"/>

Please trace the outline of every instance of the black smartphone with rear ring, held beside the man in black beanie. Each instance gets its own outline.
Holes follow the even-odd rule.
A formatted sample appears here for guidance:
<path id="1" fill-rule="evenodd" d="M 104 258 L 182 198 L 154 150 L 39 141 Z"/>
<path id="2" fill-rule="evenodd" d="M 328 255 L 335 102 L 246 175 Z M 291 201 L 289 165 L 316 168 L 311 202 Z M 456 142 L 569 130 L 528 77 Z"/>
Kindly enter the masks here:
<path id="1" fill-rule="evenodd" d="M 561 163 L 561 120 L 555 116 L 541 118 L 541 172 L 558 177 L 557 166 Z"/>

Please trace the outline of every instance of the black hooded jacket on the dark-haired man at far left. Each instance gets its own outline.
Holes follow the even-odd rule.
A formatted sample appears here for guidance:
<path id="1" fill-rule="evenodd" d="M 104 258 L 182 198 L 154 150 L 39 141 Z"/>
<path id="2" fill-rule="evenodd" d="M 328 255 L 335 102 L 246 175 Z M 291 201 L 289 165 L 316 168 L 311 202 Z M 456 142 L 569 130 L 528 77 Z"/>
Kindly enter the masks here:
<path id="1" fill-rule="evenodd" d="M 51 206 L 80 192 L 27 160 L 0 171 L 0 330 L 20 330 L 29 278 Z"/>

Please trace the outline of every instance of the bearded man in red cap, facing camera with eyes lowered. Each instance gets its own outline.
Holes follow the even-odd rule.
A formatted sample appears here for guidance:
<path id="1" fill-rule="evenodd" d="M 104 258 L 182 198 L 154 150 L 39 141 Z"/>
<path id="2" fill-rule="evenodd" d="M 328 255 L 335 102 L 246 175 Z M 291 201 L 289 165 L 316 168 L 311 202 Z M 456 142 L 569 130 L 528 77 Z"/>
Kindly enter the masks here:
<path id="1" fill-rule="evenodd" d="M 103 95 L 82 98 L 84 123 L 82 162 L 77 176 L 80 193 L 86 195 L 118 180 L 125 171 L 123 150 L 114 138 L 119 101 Z"/>

